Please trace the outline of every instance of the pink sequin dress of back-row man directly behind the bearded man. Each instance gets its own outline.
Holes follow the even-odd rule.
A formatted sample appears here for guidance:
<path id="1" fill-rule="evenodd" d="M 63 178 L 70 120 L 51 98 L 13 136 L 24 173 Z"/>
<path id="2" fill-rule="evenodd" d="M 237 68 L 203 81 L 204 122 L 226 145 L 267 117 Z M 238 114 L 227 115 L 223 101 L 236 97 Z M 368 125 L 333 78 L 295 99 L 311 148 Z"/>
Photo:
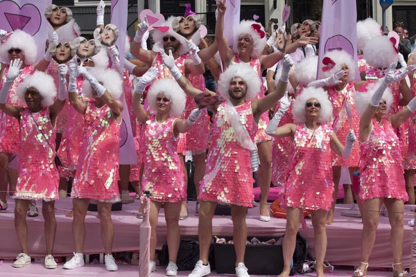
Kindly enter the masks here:
<path id="1" fill-rule="evenodd" d="M 234 59 L 231 61 L 231 64 L 239 64 L 240 62 L 241 60 L 239 58 L 239 53 L 234 53 Z M 263 72 L 261 72 L 260 59 L 258 57 L 252 58 L 252 60 L 250 60 L 250 66 L 252 67 L 252 69 L 254 69 L 254 71 L 257 72 L 261 80 L 261 89 L 255 99 L 263 98 L 264 87 L 263 87 L 263 78 L 261 77 L 261 74 Z M 259 129 L 257 130 L 257 134 L 256 134 L 256 143 L 263 143 L 265 141 L 272 140 L 272 137 L 266 134 L 266 128 L 269 122 L 270 120 L 268 118 L 268 112 L 261 114 L 260 119 L 259 119 L 259 124 L 258 124 Z"/>

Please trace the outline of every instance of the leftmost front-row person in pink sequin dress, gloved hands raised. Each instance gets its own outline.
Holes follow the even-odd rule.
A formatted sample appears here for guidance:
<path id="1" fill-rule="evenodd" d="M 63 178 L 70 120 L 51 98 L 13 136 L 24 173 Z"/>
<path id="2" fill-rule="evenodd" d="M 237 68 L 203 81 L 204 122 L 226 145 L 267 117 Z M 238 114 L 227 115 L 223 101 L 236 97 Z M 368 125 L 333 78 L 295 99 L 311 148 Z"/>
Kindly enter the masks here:
<path id="1" fill-rule="evenodd" d="M 0 109 L 19 122 L 19 176 L 15 188 L 15 231 L 21 253 L 13 267 L 24 267 L 31 263 L 28 251 L 28 226 L 26 213 L 32 200 L 43 200 L 42 215 L 45 220 L 46 257 L 44 265 L 55 269 L 52 256 L 55 241 L 55 199 L 58 199 L 59 174 L 55 158 L 55 121 L 67 98 L 66 81 L 60 83 L 60 93 L 56 96 L 53 78 L 41 71 L 26 75 L 17 89 L 17 97 L 23 107 L 6 104 L 8 91 L 15 79 L 23 71 L 22 62 L 10 62 L 6 82 L 0 91 Z M 66 74 L 66 66 L 61 76 Z"/>

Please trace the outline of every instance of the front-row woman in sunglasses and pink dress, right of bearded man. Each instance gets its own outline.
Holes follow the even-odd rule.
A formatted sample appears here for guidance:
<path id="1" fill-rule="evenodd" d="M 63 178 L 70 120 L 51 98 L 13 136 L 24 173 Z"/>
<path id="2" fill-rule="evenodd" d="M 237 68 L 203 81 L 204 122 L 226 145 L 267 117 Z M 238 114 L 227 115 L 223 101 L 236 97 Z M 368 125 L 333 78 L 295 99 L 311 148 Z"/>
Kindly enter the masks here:
<path id="1" fill-rule="evenodd" d="M 289 136 L 293 140 L 292 159 L 286 170 L 286 182 L 281 189 L 281 206 L 286 208 L 286 233 L 283 240 L 284 269 L 279 275 L 287 277 L 295 251 L 296 234 L 302 219 L 302 209 L 311 210 L 315 238 L 316 261 L 314 268 L 318 277 L 324 276 L 323 262 L 327 250 L 327 213 L 333 202 L 332 151 L 348 158 L 356 137 L 350 131 L 345 147 L 338 140 L 329 123 L 332 105 L 327 93 L 321 89 L 306 88 L 293 104 L 295 123 L 281 127 L 279 121 L 291 105 L 284 97 L 266 132 L 275 137 Z"/>

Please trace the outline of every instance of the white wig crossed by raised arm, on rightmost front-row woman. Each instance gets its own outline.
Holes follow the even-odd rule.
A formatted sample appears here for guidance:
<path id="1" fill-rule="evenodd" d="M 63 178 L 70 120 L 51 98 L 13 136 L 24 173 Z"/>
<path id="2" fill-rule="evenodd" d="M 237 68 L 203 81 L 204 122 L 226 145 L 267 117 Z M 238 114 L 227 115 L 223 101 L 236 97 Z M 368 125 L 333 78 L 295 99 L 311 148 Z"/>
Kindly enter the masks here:
<path id="1" fill-rule="evenodd" d="M 360 117 L 364 114 L 365 109 L 367 109 L 368 105 L 370 104 L 370 100 L 374 95 L 374 92 L 376 92 L 376 89 L 380 87 L 380 83 L 367 82 L 364 86 L 365 87 L 360 87 L 358 91 L 354 94 L 356 110 L 358 116 Z M 364 92 L 362 92 L 363 90 Z M 382 99 L 385 100 L 385 102 L 387 102 L 387 110 L 389 111 L 393 102 L 392 91 L 389 87 L 385 89 Z"/>

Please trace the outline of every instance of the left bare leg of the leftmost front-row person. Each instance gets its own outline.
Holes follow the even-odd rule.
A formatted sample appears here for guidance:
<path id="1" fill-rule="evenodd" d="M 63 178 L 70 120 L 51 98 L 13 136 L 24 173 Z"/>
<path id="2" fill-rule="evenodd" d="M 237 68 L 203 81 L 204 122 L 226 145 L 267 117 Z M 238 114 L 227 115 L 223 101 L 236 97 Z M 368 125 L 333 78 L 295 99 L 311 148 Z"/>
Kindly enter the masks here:
<path id="1" fill-rule="evenodd" d="M 16 199 L 15 201 L 15 231 L 19 240 L 21 253 L 29 255 L 28 250 L 28 224 L 26 223 L 26 213 L 28 213 L 31 200 Z"/>

